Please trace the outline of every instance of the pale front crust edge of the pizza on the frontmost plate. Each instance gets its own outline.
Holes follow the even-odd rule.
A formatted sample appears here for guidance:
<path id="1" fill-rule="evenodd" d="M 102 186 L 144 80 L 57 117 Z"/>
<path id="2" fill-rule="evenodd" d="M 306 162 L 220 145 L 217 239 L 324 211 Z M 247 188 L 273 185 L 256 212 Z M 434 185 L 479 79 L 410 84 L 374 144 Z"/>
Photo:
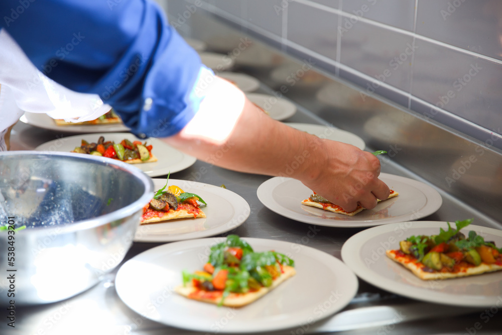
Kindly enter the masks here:
<path id="1" fill-rule="evenodd" d="M 275 279 L 270 287 L 262 287 L 258 291 L 248 292 L 248 293 L 230 293 L 224 300 L 223 306 L 227 307 L 242 307 L 252 303 L 253 301 L 258 300 L 263 297 L 265 294 L 282 284 L 286 279 L 293 277 L 296 274 L 295 268 L 287 265 L 283 265 L 283 271 L 277 279 Z M 187 284 L 186 286 L 179 285 L 174 288 L 174 291 L 188 299 L 208 302 L 212 304 L 218 304 L 220 298 L 218 299 L 203 299 L 196 297 L 189 297 L 190 294 L 197 291 L 197 288 L 193 287 L 191 284 Z"/>

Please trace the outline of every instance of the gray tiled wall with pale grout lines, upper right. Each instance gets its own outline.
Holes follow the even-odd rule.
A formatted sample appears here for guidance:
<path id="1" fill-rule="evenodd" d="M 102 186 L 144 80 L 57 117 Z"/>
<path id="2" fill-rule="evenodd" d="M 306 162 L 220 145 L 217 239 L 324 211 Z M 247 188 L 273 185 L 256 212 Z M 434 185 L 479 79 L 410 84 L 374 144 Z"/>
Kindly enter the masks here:
<path id="1" fill-rule="evenodd" d="M 366 94 L 502 149 L 500 0 L 190 1 Z"/>

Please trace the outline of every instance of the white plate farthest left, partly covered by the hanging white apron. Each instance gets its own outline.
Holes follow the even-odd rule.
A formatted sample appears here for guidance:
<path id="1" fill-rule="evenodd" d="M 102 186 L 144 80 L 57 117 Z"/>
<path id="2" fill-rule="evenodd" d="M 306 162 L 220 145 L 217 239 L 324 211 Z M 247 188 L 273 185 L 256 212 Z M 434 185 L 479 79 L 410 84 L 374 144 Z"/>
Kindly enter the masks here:
<path id="1" fill-rule="evenodd" d="M 54 119 L 52 119 L 47 114 L 29 113 L 28 111 L 26 111 L 25 114 L 19 120 L 30 126 L 61 133 L 90 134 L 90 133 L 129 132 L 129 128 L 127 128 L 123 124 L 58 126 L 54 122 Z"/>

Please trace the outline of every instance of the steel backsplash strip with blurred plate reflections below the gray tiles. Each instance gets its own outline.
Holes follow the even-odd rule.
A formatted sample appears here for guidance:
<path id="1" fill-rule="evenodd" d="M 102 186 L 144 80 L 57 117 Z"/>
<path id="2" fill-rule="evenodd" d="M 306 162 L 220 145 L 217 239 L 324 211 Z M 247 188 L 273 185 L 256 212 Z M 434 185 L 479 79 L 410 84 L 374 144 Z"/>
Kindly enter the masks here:
<path id="1" fill-rule="evenodd" d="M 205 24 L 217 29 L 214 32 L 202 29 Z M 436 124 L 434 118 L 424 119 L 369 89 L 337 78 L 334 72 L 317 69 L 316 59 L 293 59 L 260 42 L 254 35 L 225 26 L 211 15 L 200 15 L 192 28 L 194 36 L 206 41 L 232 35 L 226 52 L 238 49 L 241 39 L 252 41 L 253 47 L 260 49 L 260 59 L 266 61 L 260 61 L 259 65 L 246 62 L 239 65 L 242 52 L 234 57 L 235 71 L 260 79 L 272 92 L 304 107 L 316 120 L 360 136 L 368 149 L 388 151 L 386 157 L 379 157 L 384 171 L 388 163 L 397 163 L 500 222 L 501 172 L 493 168 L 502 166 L 502 153 L 493 148 L 493 141 L 498 137 L 485 143 L 471 140 Z M 469 165 L 466 159 L 471 156 L 475 161 Z M 489 196 L 482 190 L 489 190 Z"/>

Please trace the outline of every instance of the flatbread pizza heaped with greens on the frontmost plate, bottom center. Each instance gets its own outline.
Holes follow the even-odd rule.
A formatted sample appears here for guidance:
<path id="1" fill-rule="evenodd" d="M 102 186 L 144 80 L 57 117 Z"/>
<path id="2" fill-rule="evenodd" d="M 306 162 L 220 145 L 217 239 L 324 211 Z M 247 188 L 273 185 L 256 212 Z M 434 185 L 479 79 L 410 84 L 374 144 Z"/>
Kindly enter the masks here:
<path id="1" fill-rule="evenodd" d="M 255 252 L 237 235 L 211 247 L 204 271 L 183 272 L 174 291 L 219 306 L 242 307 L 296 274 L 294 261 L 275 251 Z"/>

